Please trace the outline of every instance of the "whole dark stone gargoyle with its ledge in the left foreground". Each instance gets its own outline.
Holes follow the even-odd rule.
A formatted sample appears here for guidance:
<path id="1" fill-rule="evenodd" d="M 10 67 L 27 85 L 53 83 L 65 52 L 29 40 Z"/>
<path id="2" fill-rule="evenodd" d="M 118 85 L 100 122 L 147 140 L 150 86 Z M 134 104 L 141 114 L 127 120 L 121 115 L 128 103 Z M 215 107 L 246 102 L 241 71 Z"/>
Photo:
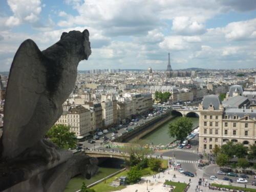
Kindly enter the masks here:
<path id="1" fill-rule="evenodd" d="M 0 191 L 62 191 L 70 177 L 97 172 L 97 159 L 44 139 L 74 89 L 79 61 L 90 54 L 88 30 L 64 32 L 44 51 L 31 39 L 20 45 L 6 91 Z"/>

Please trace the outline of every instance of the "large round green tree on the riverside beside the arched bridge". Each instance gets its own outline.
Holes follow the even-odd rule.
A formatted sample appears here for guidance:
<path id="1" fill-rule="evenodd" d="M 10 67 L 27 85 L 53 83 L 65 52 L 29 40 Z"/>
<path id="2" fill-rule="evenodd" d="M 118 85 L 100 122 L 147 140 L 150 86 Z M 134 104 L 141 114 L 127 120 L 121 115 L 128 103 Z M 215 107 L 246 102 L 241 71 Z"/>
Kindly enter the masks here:
<path id="1" fill-rule="evenodd" d="M 180 141 L 185 140 L 191 131 L 193 131 L 193 123 L 187 117 L 180 117 L 175 123 L 169 124 L 169 136 L 176 137 Z"/>

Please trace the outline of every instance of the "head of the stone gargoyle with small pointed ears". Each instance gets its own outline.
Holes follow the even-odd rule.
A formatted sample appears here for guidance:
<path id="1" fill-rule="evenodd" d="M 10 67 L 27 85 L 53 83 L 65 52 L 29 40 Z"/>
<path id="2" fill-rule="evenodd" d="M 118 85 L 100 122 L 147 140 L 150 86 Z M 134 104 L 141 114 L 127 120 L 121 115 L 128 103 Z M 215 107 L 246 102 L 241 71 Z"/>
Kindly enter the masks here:
<path id="1" fill-rule="evenodd" d="M 80 31 L 63 32 L 58 43 L 65 47 L 69 46 L 71 52 L 78 54 L 81 60 L 87 60 L 92 53 L 87 29 L 82 33 Z"/>

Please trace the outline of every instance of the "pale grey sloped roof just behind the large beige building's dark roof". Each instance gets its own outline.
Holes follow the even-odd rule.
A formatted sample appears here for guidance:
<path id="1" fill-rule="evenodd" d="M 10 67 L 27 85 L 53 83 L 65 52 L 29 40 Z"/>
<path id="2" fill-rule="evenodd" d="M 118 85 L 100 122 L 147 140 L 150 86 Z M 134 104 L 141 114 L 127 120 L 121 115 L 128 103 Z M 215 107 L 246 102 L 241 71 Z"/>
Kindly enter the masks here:
<path id="1" fill-rule="evenodd" d="M 226 101 L 223 101 L 223 106 L 225 108 L 242 108 L 244 104 L 246 104 L 246 107 L 250 105 L 250 101 L 248 98 L 243 97 L 243 96 L 236 96 L 236 97 L 231 97 Z"/>

